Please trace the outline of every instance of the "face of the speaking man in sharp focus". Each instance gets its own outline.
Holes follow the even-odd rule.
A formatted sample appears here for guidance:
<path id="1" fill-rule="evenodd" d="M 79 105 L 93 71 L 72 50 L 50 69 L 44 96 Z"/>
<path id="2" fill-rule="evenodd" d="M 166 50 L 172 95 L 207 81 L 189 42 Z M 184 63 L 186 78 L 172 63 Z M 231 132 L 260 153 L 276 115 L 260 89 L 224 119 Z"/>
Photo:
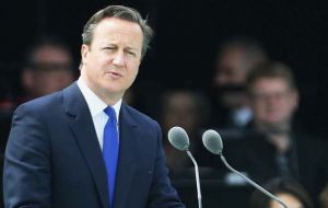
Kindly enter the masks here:
<path id="1" fill-rule="evenodd" d="M 82 45 L 81 77 L 105 103 L 117 102 L 133 83 L 142 41 L 137 23 L 108 18 L 95 27 L 92 44 Z"/>

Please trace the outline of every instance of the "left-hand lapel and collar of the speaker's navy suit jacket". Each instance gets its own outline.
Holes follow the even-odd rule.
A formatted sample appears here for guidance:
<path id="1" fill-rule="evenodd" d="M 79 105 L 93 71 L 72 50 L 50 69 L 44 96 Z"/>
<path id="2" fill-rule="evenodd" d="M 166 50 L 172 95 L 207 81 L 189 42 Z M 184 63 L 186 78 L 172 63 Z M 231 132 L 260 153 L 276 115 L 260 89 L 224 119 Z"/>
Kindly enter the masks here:
<path id="1" fill-rule="evenodd" d="M 74 117 L 71 129 L 95 182 L 102 205 L 108 208 L 106 167 L 87 104 L 77 83 L 63 91 L 66 112 Z"/>

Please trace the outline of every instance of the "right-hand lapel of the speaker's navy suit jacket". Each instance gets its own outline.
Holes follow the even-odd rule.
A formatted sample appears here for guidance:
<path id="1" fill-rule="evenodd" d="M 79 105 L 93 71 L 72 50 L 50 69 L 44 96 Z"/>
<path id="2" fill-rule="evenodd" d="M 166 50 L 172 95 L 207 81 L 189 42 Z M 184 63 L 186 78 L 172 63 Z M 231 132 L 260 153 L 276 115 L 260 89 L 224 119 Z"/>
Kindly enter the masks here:
<path id="1" fill-rule="evenodd" d="M 120 109 L 119 161 L 116 174 L 115 208 L 125 208 L 131 189 L 138 157 L 138 125 L 125 104 Z"/>

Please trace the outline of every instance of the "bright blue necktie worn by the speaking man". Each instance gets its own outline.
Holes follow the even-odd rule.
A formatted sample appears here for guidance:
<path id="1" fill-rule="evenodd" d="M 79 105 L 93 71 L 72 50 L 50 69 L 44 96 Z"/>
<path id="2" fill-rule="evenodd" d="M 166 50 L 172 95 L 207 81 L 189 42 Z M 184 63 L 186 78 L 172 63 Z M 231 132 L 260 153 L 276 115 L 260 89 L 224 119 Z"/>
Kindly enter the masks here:
<path id="1" fill-rule="evenodd" d="M 109 207 L 113 208 L 116 167 L 117 167 L 117 159 L 118 159 L 118 132 L 116 126 L 117 125 L 116 114 L 114 108 L 108 106 L 104 109 L 104 112 L 108 115 L 109 118 L 104 129 L 103 157 L 107 170 Z"/>

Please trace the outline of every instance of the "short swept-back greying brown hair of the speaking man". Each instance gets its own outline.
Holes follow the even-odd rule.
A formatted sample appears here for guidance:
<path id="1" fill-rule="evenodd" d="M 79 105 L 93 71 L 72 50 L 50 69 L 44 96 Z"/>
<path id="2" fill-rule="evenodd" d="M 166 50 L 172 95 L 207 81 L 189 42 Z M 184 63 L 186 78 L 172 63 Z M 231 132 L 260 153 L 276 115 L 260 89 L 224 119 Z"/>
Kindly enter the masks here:
<path id="1" fill-rule="evenodd" d="M 83 27 L 83 44 L 87 46 L 91 45 L 93 41 L 94 28 L 102 20 L 106 18 L 116 18 L 139 24 L 143 33 L 143 43 L 141 50 L 141 58 L 143 58 L 150 47 L 150 42 L 153 36 L 153 30 L 148 25 L 147 20 L 143 20 L 137 10 L 125 5 L 108 5 L 107 8 L 99 10 L 98 12 L 93 14 Z"/>

